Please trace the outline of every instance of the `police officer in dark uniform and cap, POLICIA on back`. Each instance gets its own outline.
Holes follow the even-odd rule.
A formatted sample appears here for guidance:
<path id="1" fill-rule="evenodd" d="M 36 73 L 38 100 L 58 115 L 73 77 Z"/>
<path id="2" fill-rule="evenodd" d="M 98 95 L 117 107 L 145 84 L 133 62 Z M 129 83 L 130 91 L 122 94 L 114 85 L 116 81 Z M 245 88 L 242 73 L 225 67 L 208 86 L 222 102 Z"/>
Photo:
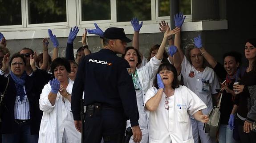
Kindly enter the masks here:
<path id="1" fill-rule="evenodd" d="M 77 71 L 72 91 L 71 109 L 78 131 L 83 128 L 84 143 L 120 143 L 130 119 L 134 142 L 140 142 L 136 93 L 124 54 L 131 42 L 123 28 L 110 27 L 102 37 L 104 47 L 85 56 Z M 85 124 L 81 127 L 79 102 L 84 91 Z"/>

